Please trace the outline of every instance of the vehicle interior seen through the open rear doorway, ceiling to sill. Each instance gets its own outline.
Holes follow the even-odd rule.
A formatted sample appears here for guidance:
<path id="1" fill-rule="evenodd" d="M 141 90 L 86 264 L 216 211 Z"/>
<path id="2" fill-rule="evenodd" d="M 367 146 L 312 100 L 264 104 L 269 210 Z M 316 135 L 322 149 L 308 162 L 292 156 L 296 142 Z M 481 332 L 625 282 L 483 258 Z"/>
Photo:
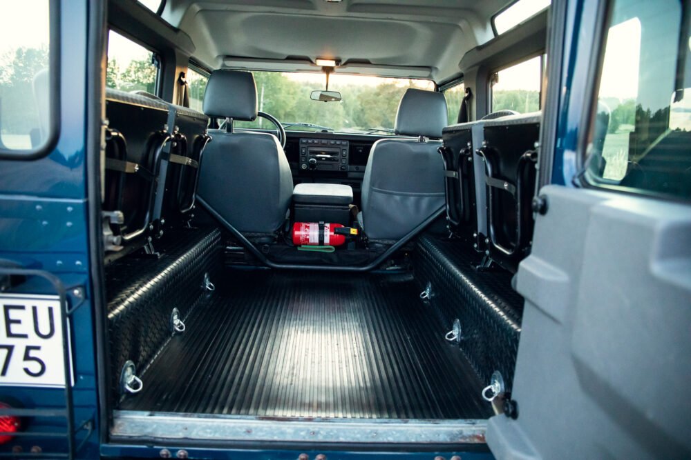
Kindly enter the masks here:
<path id="1" fill-rule="evenodd" d="M 547 40 L 547 9 L 498 34 L 506 4 L 109 2 L 158 72 L 104 91 L 111 440 L 485 448 L 512 410 Z M 529 59 L 531 109 L 492 110 Z M 271 98 L 350 96 L 258 87 L 277 72 L 403 81 L 375 94 L 395 126 L 279 120 Z"/>

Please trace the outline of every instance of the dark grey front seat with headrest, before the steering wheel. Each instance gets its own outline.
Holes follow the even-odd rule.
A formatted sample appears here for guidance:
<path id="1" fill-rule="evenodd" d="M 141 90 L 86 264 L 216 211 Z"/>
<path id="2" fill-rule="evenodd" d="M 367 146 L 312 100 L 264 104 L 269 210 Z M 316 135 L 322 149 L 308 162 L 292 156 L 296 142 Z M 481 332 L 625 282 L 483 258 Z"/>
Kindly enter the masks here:
<path id="1" fill-rule="evenodd" d="M 234 132 L 233 121 L 254 121 L 254 75 L 237 70 L 211 72 L 204 113 L 227 119 L 226 128 L 209 130 L 197 195 L 245 237 L 273 235 L 287 216 L 293 178 L 274 134 Z"/>

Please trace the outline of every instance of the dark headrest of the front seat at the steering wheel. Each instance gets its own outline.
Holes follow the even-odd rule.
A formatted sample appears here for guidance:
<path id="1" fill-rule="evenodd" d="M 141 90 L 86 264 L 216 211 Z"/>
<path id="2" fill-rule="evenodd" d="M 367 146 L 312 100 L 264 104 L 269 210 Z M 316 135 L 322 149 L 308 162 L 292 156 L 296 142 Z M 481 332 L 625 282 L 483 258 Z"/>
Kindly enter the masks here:
<path id="1" fill-rule="evenodd" d="M 214 70 L 204 93 L 204 113 L 213 118 L 254 121 L 257 87 L 254 75 L 239 70 Z"/>

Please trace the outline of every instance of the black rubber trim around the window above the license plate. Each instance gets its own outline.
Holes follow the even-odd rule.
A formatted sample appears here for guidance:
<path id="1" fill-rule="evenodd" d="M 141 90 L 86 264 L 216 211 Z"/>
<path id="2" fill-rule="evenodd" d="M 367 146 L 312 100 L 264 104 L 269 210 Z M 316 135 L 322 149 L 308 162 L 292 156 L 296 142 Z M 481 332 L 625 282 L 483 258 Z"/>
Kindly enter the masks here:
<path id="1" fill-rule="evenodd" d="M 8 160 L 35 160 L 46 157 L 57 145 L 60 134 L 60 91 L 61 91 L 61 21 L 60 21 L 60 1 L 52 0 L 48 3 L 50 9 L 50 43 L 48 45 L 48 72 L 50 78 L 50 101 L 48 117 L 48 137 L 42 146 L 29 150 L 14 150 L 3 148 L 0 143 L 0 159 Z"/>

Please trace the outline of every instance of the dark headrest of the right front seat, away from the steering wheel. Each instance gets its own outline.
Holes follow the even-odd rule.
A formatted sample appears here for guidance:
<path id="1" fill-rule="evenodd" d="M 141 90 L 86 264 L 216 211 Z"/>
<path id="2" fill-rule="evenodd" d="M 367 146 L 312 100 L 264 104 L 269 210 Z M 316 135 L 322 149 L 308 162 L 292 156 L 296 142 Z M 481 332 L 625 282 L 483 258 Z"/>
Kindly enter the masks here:
<path id="1" fill-rule="evenodd" d="M 395 131 L 404 136 L 439 138 L 446 121 L 444 94 L 408 88 L 398 106 Z"/>

